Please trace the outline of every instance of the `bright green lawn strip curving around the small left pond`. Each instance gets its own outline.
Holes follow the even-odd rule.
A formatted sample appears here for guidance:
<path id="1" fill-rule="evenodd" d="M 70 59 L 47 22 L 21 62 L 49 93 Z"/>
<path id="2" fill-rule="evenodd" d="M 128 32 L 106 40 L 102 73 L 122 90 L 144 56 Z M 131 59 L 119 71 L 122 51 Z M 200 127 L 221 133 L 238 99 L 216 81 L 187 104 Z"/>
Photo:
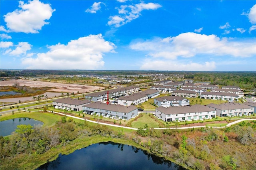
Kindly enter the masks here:
<path id="1" fill-rule="evenodd" d="M 55 124 L 56 121 L 61 119 L 60 115 L 52 114 L 52 113 L 40 113 L 40 112 L 23 112 L 15 113 L 14 115 L 2 115 L 0 117 L 1 121 L 5 121 L 8 119 L 15 119 L 20 117 L 28 117 L 44 123 L 43 126 L 51 127 Z"/>

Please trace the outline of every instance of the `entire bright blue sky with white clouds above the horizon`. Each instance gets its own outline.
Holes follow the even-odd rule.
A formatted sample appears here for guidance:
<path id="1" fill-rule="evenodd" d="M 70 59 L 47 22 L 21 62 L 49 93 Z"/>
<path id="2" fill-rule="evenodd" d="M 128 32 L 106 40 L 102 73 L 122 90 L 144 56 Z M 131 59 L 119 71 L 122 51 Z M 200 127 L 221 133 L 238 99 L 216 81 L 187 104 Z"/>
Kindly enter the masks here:
<path id="1" fill-rule="evenodd" d="M 2 69 L 256 71 L 255 1 L 0 0 Z"/>

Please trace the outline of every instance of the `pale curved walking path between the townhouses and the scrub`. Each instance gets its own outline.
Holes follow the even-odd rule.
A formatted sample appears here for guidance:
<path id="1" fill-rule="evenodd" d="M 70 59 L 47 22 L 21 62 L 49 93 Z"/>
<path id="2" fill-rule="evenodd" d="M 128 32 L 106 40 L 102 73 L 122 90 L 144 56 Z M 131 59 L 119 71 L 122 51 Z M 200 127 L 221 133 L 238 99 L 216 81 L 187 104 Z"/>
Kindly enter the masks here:
<path id="1" fill-rule="evenodd" d="M 58 113 L 58 112 L 52 112 L 52 111 L 47 111 L 47 112 L 56 113 L 56 114 L 59 114 L 59 115 L 64 115 L 64 116 L 67 116 L 67 117 L 72 117 L 74 119 L 80 119 L 80 120 L 88 121 L 88 122 L 92 122 L 92 123 L 98 123 L 100 125 L 107 125 L 107 126 L 112 126 L 112 127 L 119 127 L 119 128 L 127 128 L 127 129 L 132 129 L 132 130 L 138 130 L 138 128 L 124 127 L 124 126 L 120 126 L 120 125 L 112 125 L 112 124 L 108 124 L 108 123 L 91 121 L 91 120 L 88 120 L 88 119 L 84 119 L 84 118 L 80 118 L 80 117 L 75 117 L 75 116 L 72 116 L 72 115 L 66 115 L 64 113 Z M 230 127 L 230 126 L 232 126 L 232 125 L 234 125 L 236 123 L 240 123 L 242 121 L 256 121 L 256 119 L 239 119 L 237 121 L 229 123 L 228 125 L 226 125 L 224 127 L 212 127 L 212 128 L 226 128 L 226 127 Z M 208 127 L 208 126 L 206 125 L 206 126 L 194 126 L 194 127 L 170 127 L 170 128 L 154 128 L 154 129 L 188 129 L 188 128 L 205 128 L 205 127 Z"/>

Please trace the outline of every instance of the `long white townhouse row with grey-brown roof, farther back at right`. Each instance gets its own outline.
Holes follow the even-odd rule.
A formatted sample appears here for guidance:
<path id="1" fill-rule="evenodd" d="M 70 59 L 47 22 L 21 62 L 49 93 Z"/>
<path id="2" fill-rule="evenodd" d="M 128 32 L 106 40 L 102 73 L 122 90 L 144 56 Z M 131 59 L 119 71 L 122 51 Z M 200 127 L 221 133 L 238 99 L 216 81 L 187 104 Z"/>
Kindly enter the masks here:
<path id="1" fill-rule="evenodd" d="M 202 92 L 201 99 L 224 100 L 224 101 L 238 101 L 239 96 L 235 93 L 220 93 L 220 92 Z"/>

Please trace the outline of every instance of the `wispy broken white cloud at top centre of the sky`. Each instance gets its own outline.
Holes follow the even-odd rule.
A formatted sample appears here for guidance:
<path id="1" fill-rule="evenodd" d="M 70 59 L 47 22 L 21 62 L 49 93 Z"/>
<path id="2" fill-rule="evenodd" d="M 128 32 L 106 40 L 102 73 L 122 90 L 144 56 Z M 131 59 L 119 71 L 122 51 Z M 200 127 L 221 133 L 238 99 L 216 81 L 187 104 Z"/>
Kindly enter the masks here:
<path id="1" fill-rule="evenodd" d="M 141 16 L 143 10 L 156 10 L 160 7 L 162 7 L 160 4 L 152 2 L 141 2 L 140 4 L 135 5 L 121 5 L 120 8 L 117 8 L 118 15 L 109 17 L 108 25 L 116 28 L 123 26 Z"/>

